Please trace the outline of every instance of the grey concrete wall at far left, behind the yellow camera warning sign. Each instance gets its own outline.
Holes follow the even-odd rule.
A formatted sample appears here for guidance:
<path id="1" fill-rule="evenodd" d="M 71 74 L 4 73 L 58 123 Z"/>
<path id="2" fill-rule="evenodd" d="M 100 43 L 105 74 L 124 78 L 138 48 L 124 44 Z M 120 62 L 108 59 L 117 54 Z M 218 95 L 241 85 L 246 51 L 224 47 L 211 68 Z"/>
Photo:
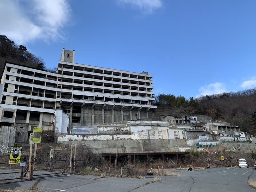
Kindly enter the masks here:
<path id="1" fill-rule="evenodd" d="M 16 130 L 11 126 L 0 127 L 0 145 L 6 147 L 12 147 L 15 142 Z"/>

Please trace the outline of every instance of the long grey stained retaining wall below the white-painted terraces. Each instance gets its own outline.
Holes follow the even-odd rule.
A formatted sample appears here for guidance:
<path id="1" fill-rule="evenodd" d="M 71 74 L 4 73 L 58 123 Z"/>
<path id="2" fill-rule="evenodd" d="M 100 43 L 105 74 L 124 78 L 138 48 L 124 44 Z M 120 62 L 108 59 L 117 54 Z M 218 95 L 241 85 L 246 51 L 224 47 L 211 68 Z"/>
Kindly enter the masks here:
<path id="1" fill-rule="evenodd" d="M 64 144 L 79 144 L 81 141 L 67 141 Z M 186 140 L 108 140 L 84 141 L 96 153 L 157 153 L 184 152 L 193 149 L 187 147 Z"/>

